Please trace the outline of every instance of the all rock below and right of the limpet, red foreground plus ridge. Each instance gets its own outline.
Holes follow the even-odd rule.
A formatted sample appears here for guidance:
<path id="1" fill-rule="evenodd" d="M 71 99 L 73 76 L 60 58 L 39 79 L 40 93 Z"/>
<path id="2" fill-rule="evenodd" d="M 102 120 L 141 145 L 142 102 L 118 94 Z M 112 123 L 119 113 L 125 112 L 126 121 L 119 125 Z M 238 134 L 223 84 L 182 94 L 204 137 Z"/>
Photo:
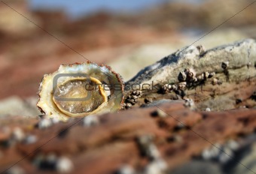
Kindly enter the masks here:
<path id="1" fill-rule="evenodd" d="M 67 123 L 2 116 L 0 172 L 252 173 L 255 65 L 252 39 L 205 51 L 189 46 L 126 83 L 159 87 L 126 90 L 129 110 Z"/>

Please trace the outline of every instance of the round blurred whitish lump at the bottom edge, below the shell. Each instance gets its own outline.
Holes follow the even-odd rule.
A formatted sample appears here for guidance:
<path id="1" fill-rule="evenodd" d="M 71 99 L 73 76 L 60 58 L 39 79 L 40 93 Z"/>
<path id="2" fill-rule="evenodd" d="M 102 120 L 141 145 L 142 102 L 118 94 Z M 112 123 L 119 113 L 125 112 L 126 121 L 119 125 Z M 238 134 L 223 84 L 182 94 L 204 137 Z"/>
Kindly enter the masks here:
<path id="1" fill-rule="evenodd" d="M 71 172 L 73 169 L 73 163 L 68 157 L 59 157 L 56 162 L 57 172 L 66 173 Z"/>

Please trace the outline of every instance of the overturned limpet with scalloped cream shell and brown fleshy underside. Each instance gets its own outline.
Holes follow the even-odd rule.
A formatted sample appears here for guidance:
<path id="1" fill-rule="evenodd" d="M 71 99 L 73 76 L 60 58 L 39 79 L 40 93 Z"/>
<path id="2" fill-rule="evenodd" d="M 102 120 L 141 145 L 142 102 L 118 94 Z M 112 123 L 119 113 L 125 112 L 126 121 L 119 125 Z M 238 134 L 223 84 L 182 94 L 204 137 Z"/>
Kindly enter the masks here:
<path id="1" fill-rule="evenodd" d="M 123 81 L 105 65 L 61 65 L 53 74 L 44 75 L 38 95 L 37 106 L 42 113 L 66 121 L 120 110 Z"/>

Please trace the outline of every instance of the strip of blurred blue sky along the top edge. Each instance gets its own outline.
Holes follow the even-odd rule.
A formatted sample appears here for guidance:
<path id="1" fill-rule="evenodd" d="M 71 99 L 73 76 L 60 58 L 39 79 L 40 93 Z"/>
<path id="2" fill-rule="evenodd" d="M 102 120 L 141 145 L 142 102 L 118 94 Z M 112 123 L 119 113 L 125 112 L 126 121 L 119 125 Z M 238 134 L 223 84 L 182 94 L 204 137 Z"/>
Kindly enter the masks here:
<path id="1" fill-rule="evenodd" d="M 80 15 L 101 9 L 110 11 L 138 10 L 156 5 L 163 1 L 194 2 L 203 0 L 29 0 L 32 8 L 62 8 L 66 10 L 71 17 L 79 17 Z"/>

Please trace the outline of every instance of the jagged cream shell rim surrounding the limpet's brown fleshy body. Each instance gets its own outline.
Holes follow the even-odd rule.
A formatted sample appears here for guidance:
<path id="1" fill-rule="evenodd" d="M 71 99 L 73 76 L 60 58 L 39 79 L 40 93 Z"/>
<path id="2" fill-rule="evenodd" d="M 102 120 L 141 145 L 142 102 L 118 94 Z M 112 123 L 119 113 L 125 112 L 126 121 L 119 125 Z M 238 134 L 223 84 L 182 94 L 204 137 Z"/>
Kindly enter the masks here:
<path id="1" fill-rule="evenodd" d="M 115 92 L 115 95 L 119 97 L 115 96 L 114 98 L 111 98 L 108 101 L 108 104 L 105 105 L 105 107 L 101 107 L 99 108 L 99 110 L 95 110 L 93 113 L 90 114 L 114 112 L 116 110 L 120 110 L 121 106 L 123 105 L 124 98 L 124 84 L 120 75 L 112 71 L 111 67 L 107 65 L 97 65 L 88 61 L 82 64 L 75 63 L 72 65 L 61 65 L 59 67 L 59 70 L 55 71 L 53 74 L 44 75 L 38 89 L 39 98 L 37 106 L 41 113 L 47 115 L 48 118 L 58 118 L 61 121 L 67 121 L 70 117 L 62 113 L 53 102 L 53 77 L 55 77 L 57 74 L 87 74 L 88 72 L 89 76 L 90 74 L 92 74 L 91 77 L 114 77 L 114 81 L 116 81 L 120 85 L 120 92 Z"/>

